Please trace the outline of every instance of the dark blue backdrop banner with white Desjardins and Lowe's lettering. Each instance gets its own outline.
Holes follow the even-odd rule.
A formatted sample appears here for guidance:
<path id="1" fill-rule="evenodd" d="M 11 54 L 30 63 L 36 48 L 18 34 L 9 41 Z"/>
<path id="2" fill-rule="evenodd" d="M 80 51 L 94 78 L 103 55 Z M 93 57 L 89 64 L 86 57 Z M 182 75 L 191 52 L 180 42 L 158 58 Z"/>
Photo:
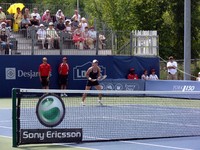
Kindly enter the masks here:
<path id="1" fill-rule="evenodd" d="M 42 88 L 39 80 L 39 65 L 44 56 L 0 56 L 0 97 L 10 97 L 12 88 Z M 46 56 L 52 67 L 50 89 L 60 89 L 58 67 L 63 56 Z M 68 89 L 84 90 L 86 85 L 85 73 L 97 59 L 101 74 L 107 79 L 126 79 L 130 68 L 135 68 L 140 77 L 144 69 L 156 69 L 159 74 L 159 58 L 136 56 L 67 56 L 70 67 Z M 117 86 L 120 88 L 120 85 Z M 128 87 L 127 87 L 128 88 Z M 133 87 L 130 87 L 130 89 Z"/>

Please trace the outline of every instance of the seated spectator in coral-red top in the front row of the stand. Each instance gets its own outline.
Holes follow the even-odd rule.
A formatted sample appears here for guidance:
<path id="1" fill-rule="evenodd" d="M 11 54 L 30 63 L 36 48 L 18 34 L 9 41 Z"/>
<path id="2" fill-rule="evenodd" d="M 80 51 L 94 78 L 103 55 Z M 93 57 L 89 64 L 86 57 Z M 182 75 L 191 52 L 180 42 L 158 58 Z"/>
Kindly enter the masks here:
<path id="1" fill-rule="evenodd" d="M 75 43 L 75 46 L 78 49 L 83 49 L 83 33 L 81 31 L 81 26 L 79 25 L 78 28 L 73 33 L 73 41 Z"/>

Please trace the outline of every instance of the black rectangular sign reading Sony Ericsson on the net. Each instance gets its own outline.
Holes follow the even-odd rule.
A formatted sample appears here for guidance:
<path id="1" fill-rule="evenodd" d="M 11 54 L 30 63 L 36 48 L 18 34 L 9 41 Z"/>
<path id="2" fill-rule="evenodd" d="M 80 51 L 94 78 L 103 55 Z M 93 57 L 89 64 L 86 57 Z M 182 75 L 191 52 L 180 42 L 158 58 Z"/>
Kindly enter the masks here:
<path id="1" fill-rule="evenodd" d="M 20 144 L 82 142 L 82 138 L 81 128 L 20 130 Z"/>

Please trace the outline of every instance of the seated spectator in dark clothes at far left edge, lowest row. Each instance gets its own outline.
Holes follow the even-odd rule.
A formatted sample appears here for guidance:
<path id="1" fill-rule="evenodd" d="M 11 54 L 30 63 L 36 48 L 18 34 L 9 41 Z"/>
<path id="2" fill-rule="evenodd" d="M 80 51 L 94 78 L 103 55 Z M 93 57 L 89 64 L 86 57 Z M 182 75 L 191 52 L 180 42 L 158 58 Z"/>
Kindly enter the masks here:
<path id="1" fill-rule="evenodd" d="M 6 35 L 5 29 L 1 29 L 0 43 L 1 43 L 2 49 L 5 50 L 5 54 L 9 54 L 9 50 L 13 48 L 13 44 L 9 41 L 9 38 Z"/>

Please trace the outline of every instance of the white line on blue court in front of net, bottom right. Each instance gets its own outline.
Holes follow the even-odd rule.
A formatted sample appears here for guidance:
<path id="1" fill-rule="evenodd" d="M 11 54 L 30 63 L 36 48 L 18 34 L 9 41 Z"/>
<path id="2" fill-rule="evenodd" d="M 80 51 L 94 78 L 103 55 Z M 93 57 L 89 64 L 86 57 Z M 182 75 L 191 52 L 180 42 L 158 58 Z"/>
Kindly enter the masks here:
<path id="1" fill-rule="evenodd" d="M 173 146 L 165 146 L 165 145 L 157 145 L 157 144 L 148 144 L 148 143 L 140 143 L 140 142 L 130 142 L 130 141 L 120 141 L 120 142 L 137 144 L 137 145 L 152 146 L 152 147 L 162 147 L 162 148 L 176 149 L 176 150 L 193 150 L 193 149 L 189 149 L 189 148 L 181 148 L 181 147 L 173 147 Z"/>

